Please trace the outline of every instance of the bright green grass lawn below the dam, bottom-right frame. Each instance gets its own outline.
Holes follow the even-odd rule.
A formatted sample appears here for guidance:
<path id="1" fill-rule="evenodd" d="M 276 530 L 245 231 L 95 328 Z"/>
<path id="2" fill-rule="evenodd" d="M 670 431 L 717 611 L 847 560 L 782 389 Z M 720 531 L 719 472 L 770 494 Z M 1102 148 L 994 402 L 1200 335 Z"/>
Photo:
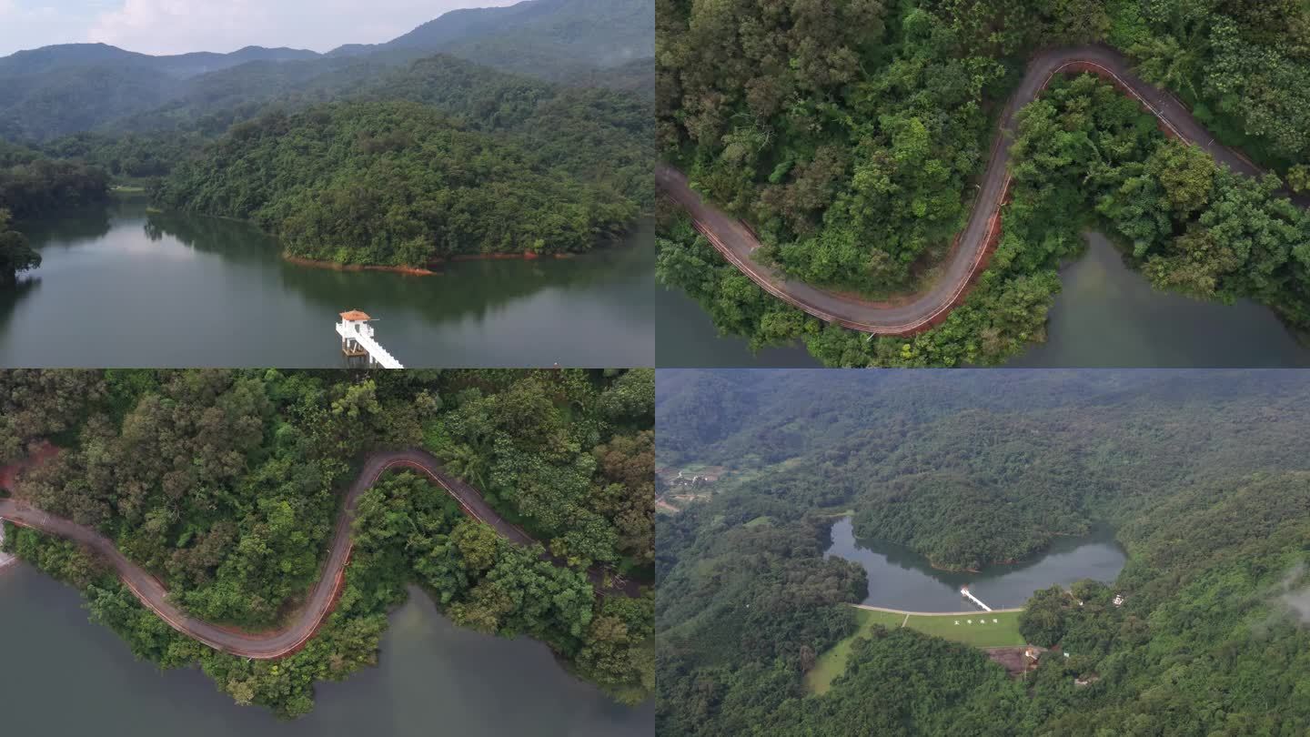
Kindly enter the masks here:
<path id="1" fill-rule="evenodd" d="M 888 629 L 896 627 L 909 627 L 925 635 L 945 637 L 973 645 L 976 648 L 1000 648 L 1005 645 L 1023 645 L 1023 635 L 1019 635 L 1019 612 L 979 612 L 979 614 L 938 614 L 917 615 L 907 618 L 904 614 L 889 611 L 874 611 L 857 608 L 855 619 L 859 628 L 855 633 L 837 643 L 831 650 L 819 656 L 819 661 L 806 674 L 806 688 L 811 694 L 824 694 L 832 687 L 832 682 L 845 673 L 846 661 L 850 658 L 850 645 L 855 637 L 867 637 L 875 624 L 882 624 Z M 994 620 L 994 622 L 993 622 Z M 959 624 L 956 624 L 956 622 Z"/>

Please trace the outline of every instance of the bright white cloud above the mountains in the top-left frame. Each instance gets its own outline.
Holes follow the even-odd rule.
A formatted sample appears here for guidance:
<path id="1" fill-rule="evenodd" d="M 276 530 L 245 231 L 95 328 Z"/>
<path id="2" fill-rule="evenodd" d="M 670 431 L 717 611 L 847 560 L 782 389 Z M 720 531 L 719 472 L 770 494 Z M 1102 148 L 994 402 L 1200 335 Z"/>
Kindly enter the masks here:
<path id="1" fill-rule="evenodd" d="M 0 0 L 3 3 L 13 0 Z M 381 43 L 464 7 L 516 0 L 123 0 L 100 13 L 85 34 L 144 54 L 234 51 L 291 46 L 330 51 L 343 43 Z M 0 5 L 3 7 L 3 5 Z"/>

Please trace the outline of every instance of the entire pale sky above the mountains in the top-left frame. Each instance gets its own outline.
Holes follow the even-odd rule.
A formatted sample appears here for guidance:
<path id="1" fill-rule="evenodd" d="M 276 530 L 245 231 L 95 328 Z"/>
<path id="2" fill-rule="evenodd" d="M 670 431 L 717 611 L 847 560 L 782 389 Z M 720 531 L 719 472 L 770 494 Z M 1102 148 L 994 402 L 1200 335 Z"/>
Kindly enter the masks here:
<path id="1" fill-rule="evenodd" d="M 380 43 L 447 10 L 517 0 L 0 0 L 0 56 L 52 43 L 141 54 Z"/>

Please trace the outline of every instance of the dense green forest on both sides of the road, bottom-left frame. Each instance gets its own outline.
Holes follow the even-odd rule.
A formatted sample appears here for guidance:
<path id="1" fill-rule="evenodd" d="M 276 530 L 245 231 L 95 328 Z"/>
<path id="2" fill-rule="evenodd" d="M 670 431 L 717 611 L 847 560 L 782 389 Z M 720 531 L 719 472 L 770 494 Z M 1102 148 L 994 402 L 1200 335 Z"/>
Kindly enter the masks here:
<path id="1" fill-rule="evenodd" d="M 654 591 L 597 595 L 586 569 L 651 578 L 652 424 L 648 370 L 13 370 L 0 374 L 0 464 L 62 448 L 14 494 L 111 538 L 195 616 L 248 629 L 290 616 L 341 492 L 377 448 L 432 451 L 545 548 L 496 536 L 426 476 L 388 473 L 359 502 L 324 628 L 292 656 L 250 661 L 173 631 L 71 543 L 9 527 L 5 546 L 80 588 L 139 657 L 199 664 L 238 703 L 283 716 L 313 707 L 316 681 L 376 662 L 410 585 L 455 623 L 538 639 L 637 703 L 654 688 Z"/>

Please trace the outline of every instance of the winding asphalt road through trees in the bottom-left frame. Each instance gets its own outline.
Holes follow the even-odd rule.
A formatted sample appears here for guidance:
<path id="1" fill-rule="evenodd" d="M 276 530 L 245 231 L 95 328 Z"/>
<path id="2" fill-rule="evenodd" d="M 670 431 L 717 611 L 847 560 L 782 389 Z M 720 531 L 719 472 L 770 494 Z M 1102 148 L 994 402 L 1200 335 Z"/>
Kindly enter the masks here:
<path id="1" fill-rule="evenodd" d="M 14 525 L 67 538 L 92 548 L 114 567 L 123 584 L 136 594 L 136 598 L 143 605 L 155 611 L 155 614 L 178 632 L 194 637 L 216 650 L 255 660 L 272 660 L 295 653 L 304 647 L 314 636 L 324 620 L 328 619 L 328 615 L 331 614 L 337 603 L 337 594 L 345 581 L 346 564 L 350 560 L 352 544 L 350 535 L 351 522 L 355 519 L 359 497 L 384 472 L 393 468 L 410 468 L 426 473 L 432 481 L 444 488 L 448 494 L 455 497 L 465 514 L 490 526 L 496 534 L 511 543 L 529 546 L 534 542 L 527 532 L 506 522 L 496 514 L 477 489 L 447 476 L 432 455 L 419 450 L 375 452 L 368 456 L 363 471 L 360 471 L 346 493 L 346 505 L 337 519 L 337 530 L 333 532 L 328 561 L 324 564 L 318 581 L 314 582 L 309 590 L 309 595 L 305 597 L 305 601 L 296 611 L 295 622 L 276 631 L 242 632 L 232 627 L 195 619 L 173 606 L 168 601 L 168 589 L 157 578 L 118 552 L 118 548 L 114 547 L 114 543 L 109 538 L 89 527 L 54 517 L 12 498 L 0 498 L 0 518 L 8 519 Z M 562 564 L 562 561 L 552 560 L 555 564 Z M 600 589 L 603 572 L 592 569 L 588 572 L 588 577 Z M 638 595 L 639 589 L 641 586 L 635 581 L 624 581 L 610 586 L 610 590 L 626 595 Z"/>

